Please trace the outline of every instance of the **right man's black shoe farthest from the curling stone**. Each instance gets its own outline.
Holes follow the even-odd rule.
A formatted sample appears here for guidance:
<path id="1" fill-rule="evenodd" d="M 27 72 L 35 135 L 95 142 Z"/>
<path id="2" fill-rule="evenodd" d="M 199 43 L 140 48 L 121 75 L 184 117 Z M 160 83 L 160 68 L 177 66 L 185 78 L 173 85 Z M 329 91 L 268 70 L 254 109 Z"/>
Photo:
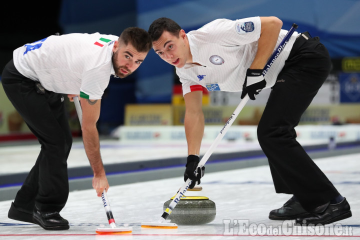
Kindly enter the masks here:
<path id="1" fill-rule="evenodd" d="M 342 220 L 351 216 L 350 205 L 346 198 L 336 204 L 327 202 L 316 207 L 311 214 L 305 217 L 296 218 L 297 224 L 329 224 L 334 221 Z"/>

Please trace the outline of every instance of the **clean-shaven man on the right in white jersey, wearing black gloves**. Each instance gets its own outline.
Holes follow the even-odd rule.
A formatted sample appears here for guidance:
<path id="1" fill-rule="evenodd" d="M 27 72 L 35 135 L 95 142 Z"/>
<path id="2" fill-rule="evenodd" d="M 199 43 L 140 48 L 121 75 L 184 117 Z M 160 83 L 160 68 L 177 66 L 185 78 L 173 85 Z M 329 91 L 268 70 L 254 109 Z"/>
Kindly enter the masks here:
<path id="1" fill-rule="evenodd" d="M 193 173 L 204 130 L 202 87 L 242 91 L 241 98 L 248 94 L 252 100 L 271 87 L 257 137 L 276 192 L 293 196 L 270 211 L 269 218 L 327 224 L 350 217 L 350 206 L 296 141 L 294 127 L 326 79 L 330 58 L 318 37 L 294 32 L 263 76 L 268 58 L 287 33 L 281 27 L 282 21 L 274 16 L 248 17 L 216 19 L 185 33 L 176 22 L 161 17 L 148 32 L 153 49 L 176 67 L 182 83 L 188 146 L 184 179 L 199 183 L 202 176 Z"/>

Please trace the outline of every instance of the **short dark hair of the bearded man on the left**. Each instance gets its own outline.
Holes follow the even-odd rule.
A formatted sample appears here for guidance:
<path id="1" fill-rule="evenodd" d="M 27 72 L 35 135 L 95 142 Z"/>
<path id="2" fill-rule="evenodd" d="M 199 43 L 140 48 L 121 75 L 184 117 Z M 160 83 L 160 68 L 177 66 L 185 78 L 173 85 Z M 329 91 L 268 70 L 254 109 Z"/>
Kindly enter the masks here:
<path id="1" fill-rule="evenodd" d="M 125 28 L 121 32 L 118 41 L 122 41 L 125 45 L 131 43 L 139 52 L 148 52 L 152 46 L 151 37 L 147 31 L 136 26 Z"/>

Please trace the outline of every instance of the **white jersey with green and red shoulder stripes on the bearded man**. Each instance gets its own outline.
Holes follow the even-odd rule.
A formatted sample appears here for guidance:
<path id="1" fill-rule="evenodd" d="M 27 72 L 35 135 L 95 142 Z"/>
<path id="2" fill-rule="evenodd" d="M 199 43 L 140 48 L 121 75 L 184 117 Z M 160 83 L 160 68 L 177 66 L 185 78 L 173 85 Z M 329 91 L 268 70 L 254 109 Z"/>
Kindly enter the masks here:
<path id="1" fill-rule="evenodd" d="M 49 91 L 100 99 L 112 67 L 118 36 L 98 32 L 51 35 L 13 51 L 16 69 Z"/>

